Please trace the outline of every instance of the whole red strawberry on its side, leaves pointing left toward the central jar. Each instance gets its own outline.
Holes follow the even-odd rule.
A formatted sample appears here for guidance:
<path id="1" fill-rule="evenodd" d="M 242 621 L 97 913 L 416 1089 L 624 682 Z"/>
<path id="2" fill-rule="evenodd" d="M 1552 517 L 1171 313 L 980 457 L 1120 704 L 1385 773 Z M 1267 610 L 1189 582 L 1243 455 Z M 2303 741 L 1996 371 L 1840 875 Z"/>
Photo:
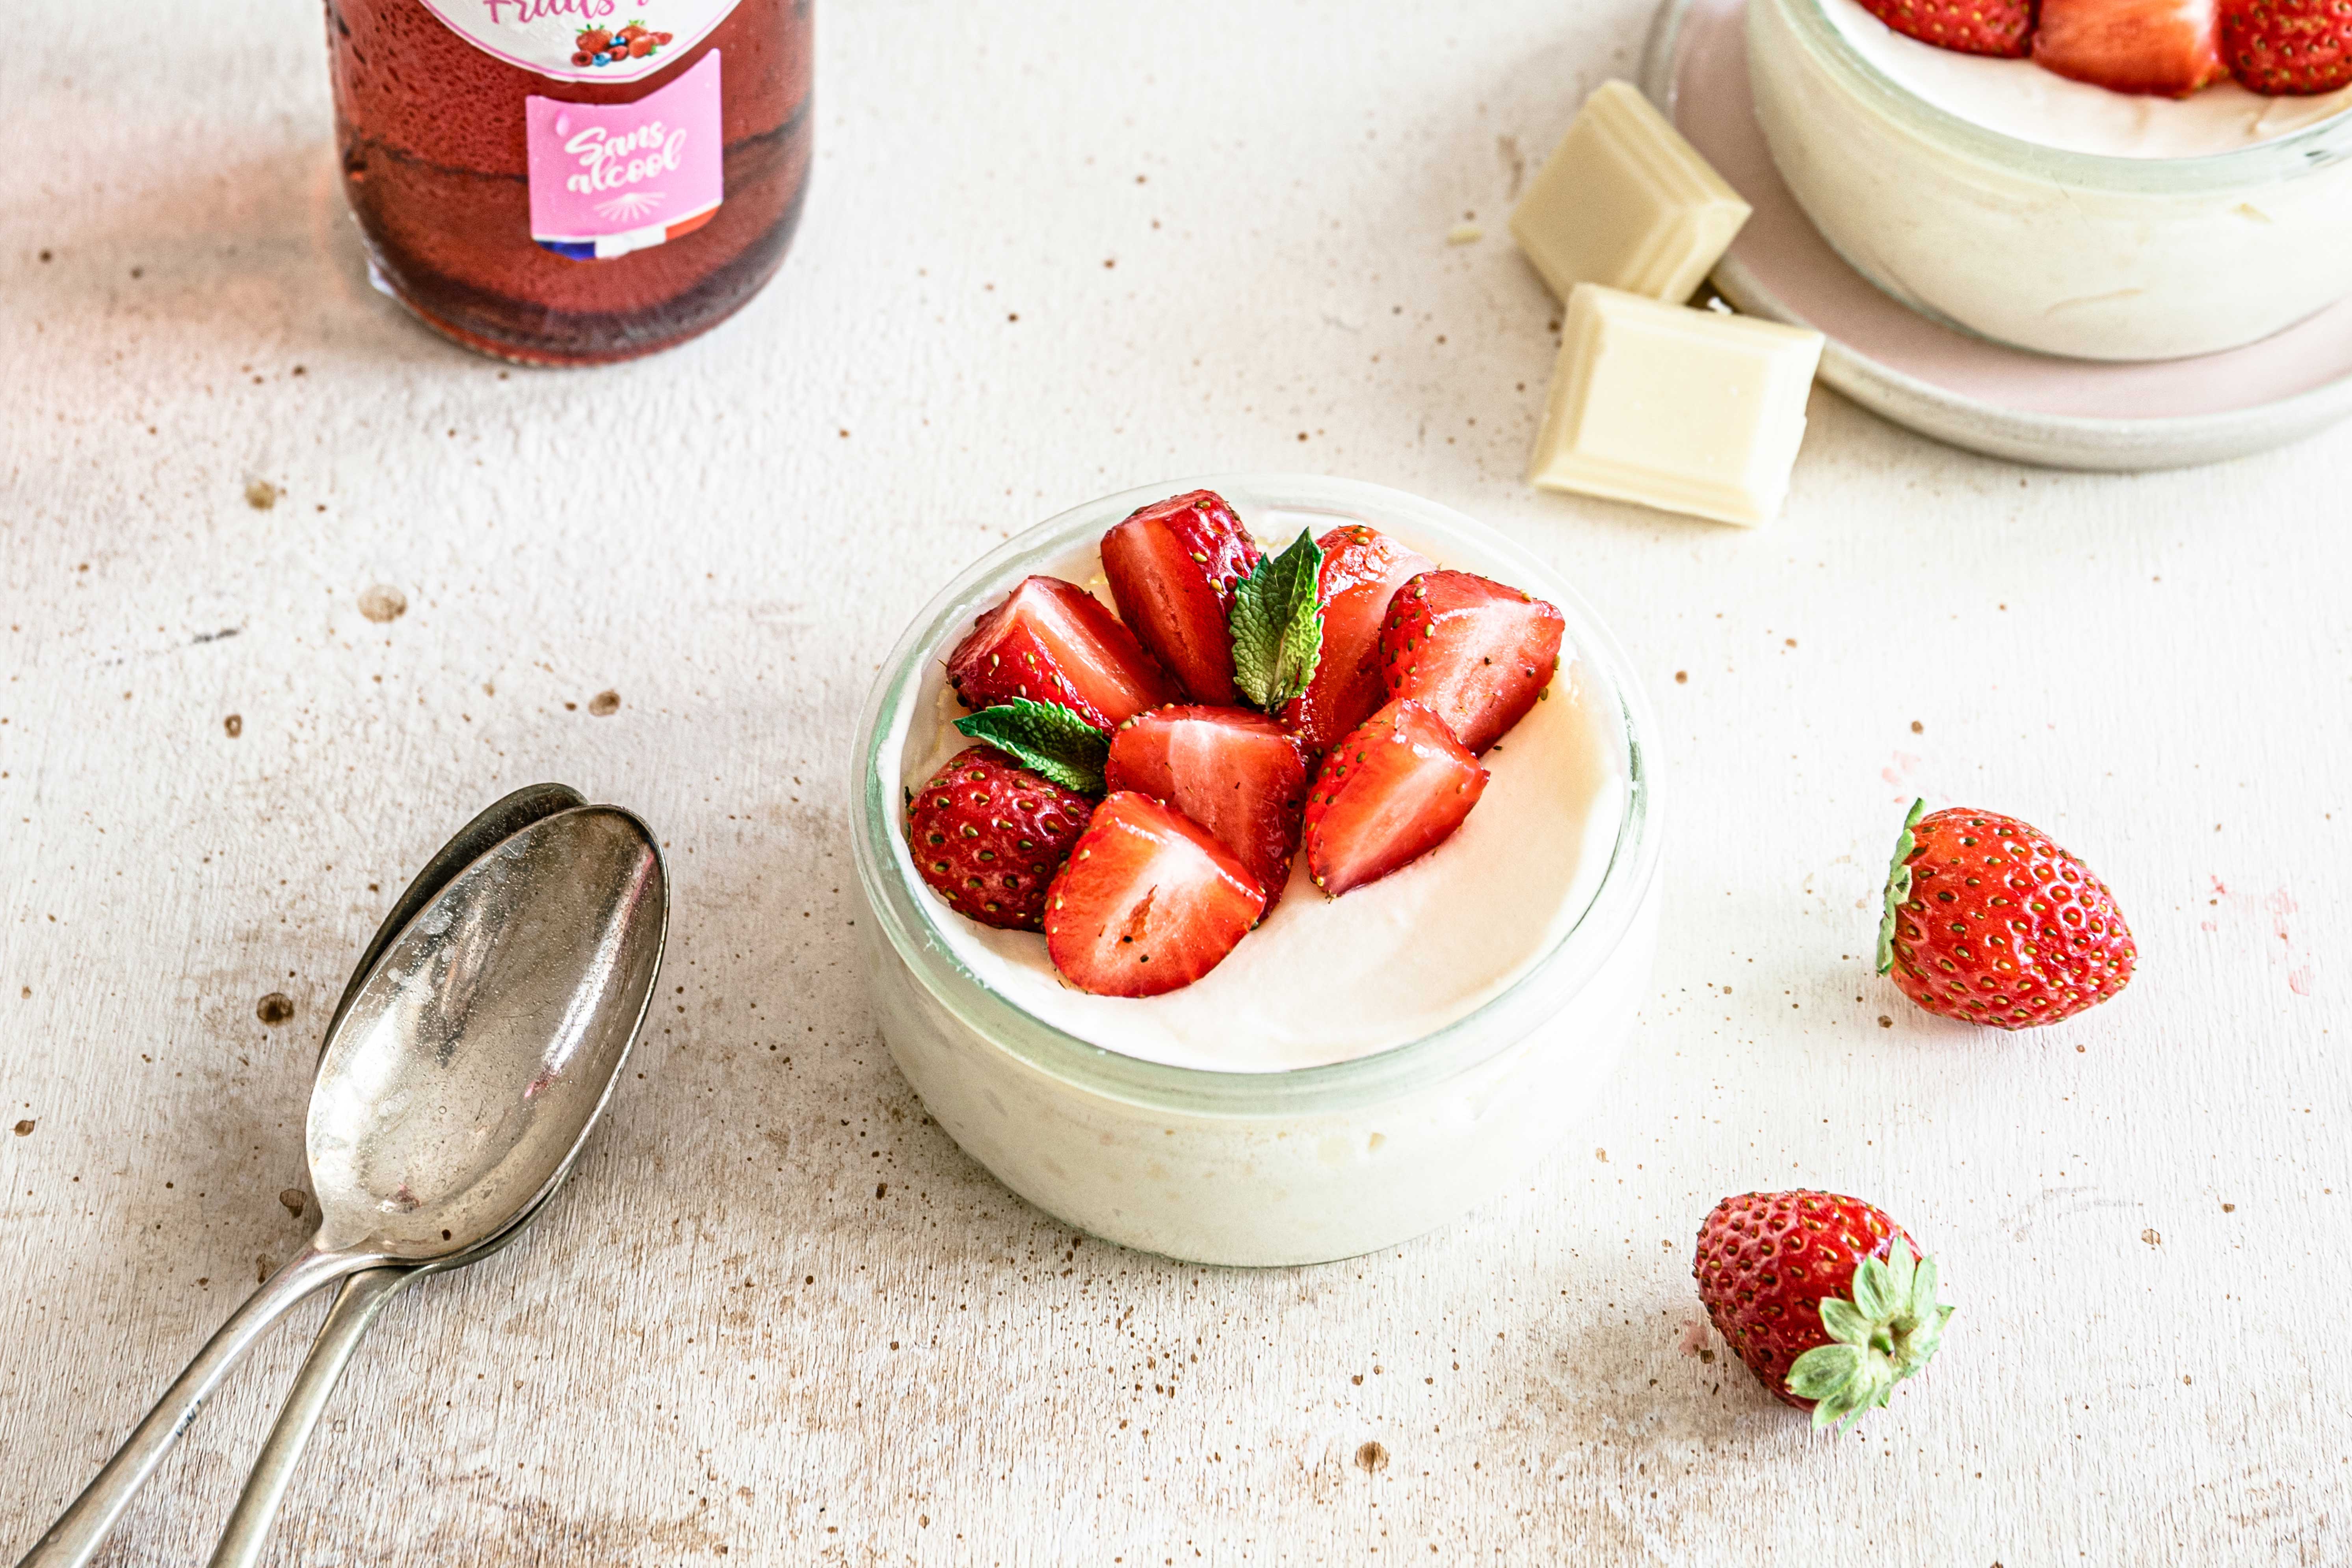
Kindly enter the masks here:
<path id="1" fill-rule="evenodd" d="M 2131 983 L 2131 929 L 2091 867 L 2013 816 L 1924 804 L 1903 818 L 1879 922 L 1879 973 L 1905 997 L 2032 1030 Z"/>

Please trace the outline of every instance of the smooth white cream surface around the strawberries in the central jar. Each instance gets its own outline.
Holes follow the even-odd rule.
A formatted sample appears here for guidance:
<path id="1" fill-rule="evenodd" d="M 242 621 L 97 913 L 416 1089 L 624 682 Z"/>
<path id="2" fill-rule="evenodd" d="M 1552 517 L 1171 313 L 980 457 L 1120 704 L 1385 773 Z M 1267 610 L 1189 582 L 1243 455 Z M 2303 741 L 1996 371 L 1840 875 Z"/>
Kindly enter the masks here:
<path id="1" fill-rule="evenodd" d="M 1047 571 L 1110 604 L 1094 548 Z M 967 708 L 943 675 L 931 684 L 938 722 L 917 783 L 971 745 L 955 729 Z M 1578 661 L 1564 656 L 1548 698 L 1479 757 L 1491 780 L 1454 837 L 1345 898 L 1324 898 L 1301 856 L 1272 914 L 1223 964 L 1164 997 L 1089 997 L 1054 971 L 1035 931 L 981 926 L 929 886 L 922 896 L 990 990 L 1108 1051 L 1216 1072 L 1343 1063 L 1475 1011 L 1576 924 L 1625 813 L 1606 724 Z"/>

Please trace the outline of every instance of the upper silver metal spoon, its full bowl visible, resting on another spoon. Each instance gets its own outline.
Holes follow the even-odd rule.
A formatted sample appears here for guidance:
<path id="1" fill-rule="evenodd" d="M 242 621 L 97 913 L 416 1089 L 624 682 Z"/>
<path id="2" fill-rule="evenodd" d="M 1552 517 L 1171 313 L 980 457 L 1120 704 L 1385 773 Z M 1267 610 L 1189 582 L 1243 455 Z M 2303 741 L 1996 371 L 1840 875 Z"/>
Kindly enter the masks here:
<path id="1" fill-rule="evenodd" d="M 423 900 L 320 1056 L 306 1138 L 318 1237 L 230 1314 L 19 1568 L 82 1568 L 296 1300 L 454 1258 L 543 1201 L 644 1023 L 666 926 L 661 849 L 616 806 L 539 818 Z"/>

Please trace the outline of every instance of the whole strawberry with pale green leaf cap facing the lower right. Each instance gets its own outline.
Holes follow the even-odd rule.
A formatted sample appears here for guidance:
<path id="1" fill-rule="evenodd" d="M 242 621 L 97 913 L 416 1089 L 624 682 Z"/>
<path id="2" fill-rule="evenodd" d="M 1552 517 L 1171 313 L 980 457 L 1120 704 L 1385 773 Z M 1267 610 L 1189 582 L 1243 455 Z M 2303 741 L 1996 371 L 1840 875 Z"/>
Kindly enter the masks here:
<path id="1" fill-rule="evenodd" d="M 1835 1192 L 1745 1192 L 1698 1227 L 1698 1300 L 1773 1399 L 1851 1425 L 1943 1342 L 1936 1260 L 1882 1208 Z"/>

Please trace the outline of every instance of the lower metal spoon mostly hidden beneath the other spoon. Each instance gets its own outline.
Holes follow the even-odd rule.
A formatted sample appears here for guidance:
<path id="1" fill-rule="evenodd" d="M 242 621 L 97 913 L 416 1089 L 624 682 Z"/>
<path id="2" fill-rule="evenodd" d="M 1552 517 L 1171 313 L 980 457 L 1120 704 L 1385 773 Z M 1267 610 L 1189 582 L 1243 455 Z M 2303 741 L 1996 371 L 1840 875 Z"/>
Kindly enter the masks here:
<path id="1" fill-rule="evenodd" d="M 416 872 L 414 882 L 409 882 L 407 893 L 402 893 L 400 903 L 393 905 L 393 912 L 383 917 L 383 926 L 376 929 L 376 940 L 372 940 L 367 952 L 360 954 L 360 966 L 353 969 L 350 985 L 343 987 L 343 1001 L 336 1006 L 336 1018 L 341 1018 L 350 1006 L 350 999 L 360 994 L 360 980 L 367 978 L 367 971 L 374 966 L 383 947 L 390 945 L 393 936 L 400 933 L 416 910 L 433 903 L 452 877 L 466 870 L 468 863 L 496 849 L 501 839 L 529 827 L 539 818 L 583 804 L 586 799 L 567 785 L 532 785 L 527 790 L 515 790 L 489 811 L 459 827 L 456 837 L 442 844 L 440 853 L 426 860 L 426 867 Z M 334 1025 L 329 1025 L 327 1032 L 334 1034 Z M 320 1060 L 325 1060 L 325 1053 Z M 261 1561 L 261 1547 L 268 1544 L 270 1526 L 278 1521 L 278 1507 L 285 1502 L 287 1486 L 294 1481 L 294 1467 L 301 1465 L 301 1455 L 310 1446 L 310 1432 L 318 1427 L 318 1418 L 327 1410 L 327 1399 L 334 1394 L 334 1385 L 341 1382 L 343 1368 L 350 1363 L 350 1354 L 360 1347 L 360 1338 L 376 1321 L 376 1314 L 395 1295 L 400 1295 L 400 1291 L 426 1274 L 461 1269 L 468 1262 L 480 1262 L 520 1237 L 524 1227 L 539 1218 L 539 1211 L 546 1208 L 546 1201 L 555 1197 L 562 1180 L 564 1175 L 560 1173 L 539 1201 L 515 1215 L 513 1225 L 480 1246 L 468 1246 L 463 1253 L 454 1253 L 437 1262 L 362 1269 L 343 1281 L 343 1288 L 336 1291 L 334 1305 L 327 1309 L 327 1321 L 320 1324 L 318 1338 L 310 1342 L 310 1354 L 294 1375 L 294 1387 L 287 1389 L 285 1403 L 278 1408 L 278 1422 L 270 1427 L 270 1436 L 261 1443 L 261 1453 L 254 1458 L 254 1467 L 245 1476 L 245 1490 L 238 1493 L 238 1507 L 228 1514 L 228 1526 L 221 1530 L 221 1544 L 212 1549 L 212 1568 L 249 1568 Z"/>

